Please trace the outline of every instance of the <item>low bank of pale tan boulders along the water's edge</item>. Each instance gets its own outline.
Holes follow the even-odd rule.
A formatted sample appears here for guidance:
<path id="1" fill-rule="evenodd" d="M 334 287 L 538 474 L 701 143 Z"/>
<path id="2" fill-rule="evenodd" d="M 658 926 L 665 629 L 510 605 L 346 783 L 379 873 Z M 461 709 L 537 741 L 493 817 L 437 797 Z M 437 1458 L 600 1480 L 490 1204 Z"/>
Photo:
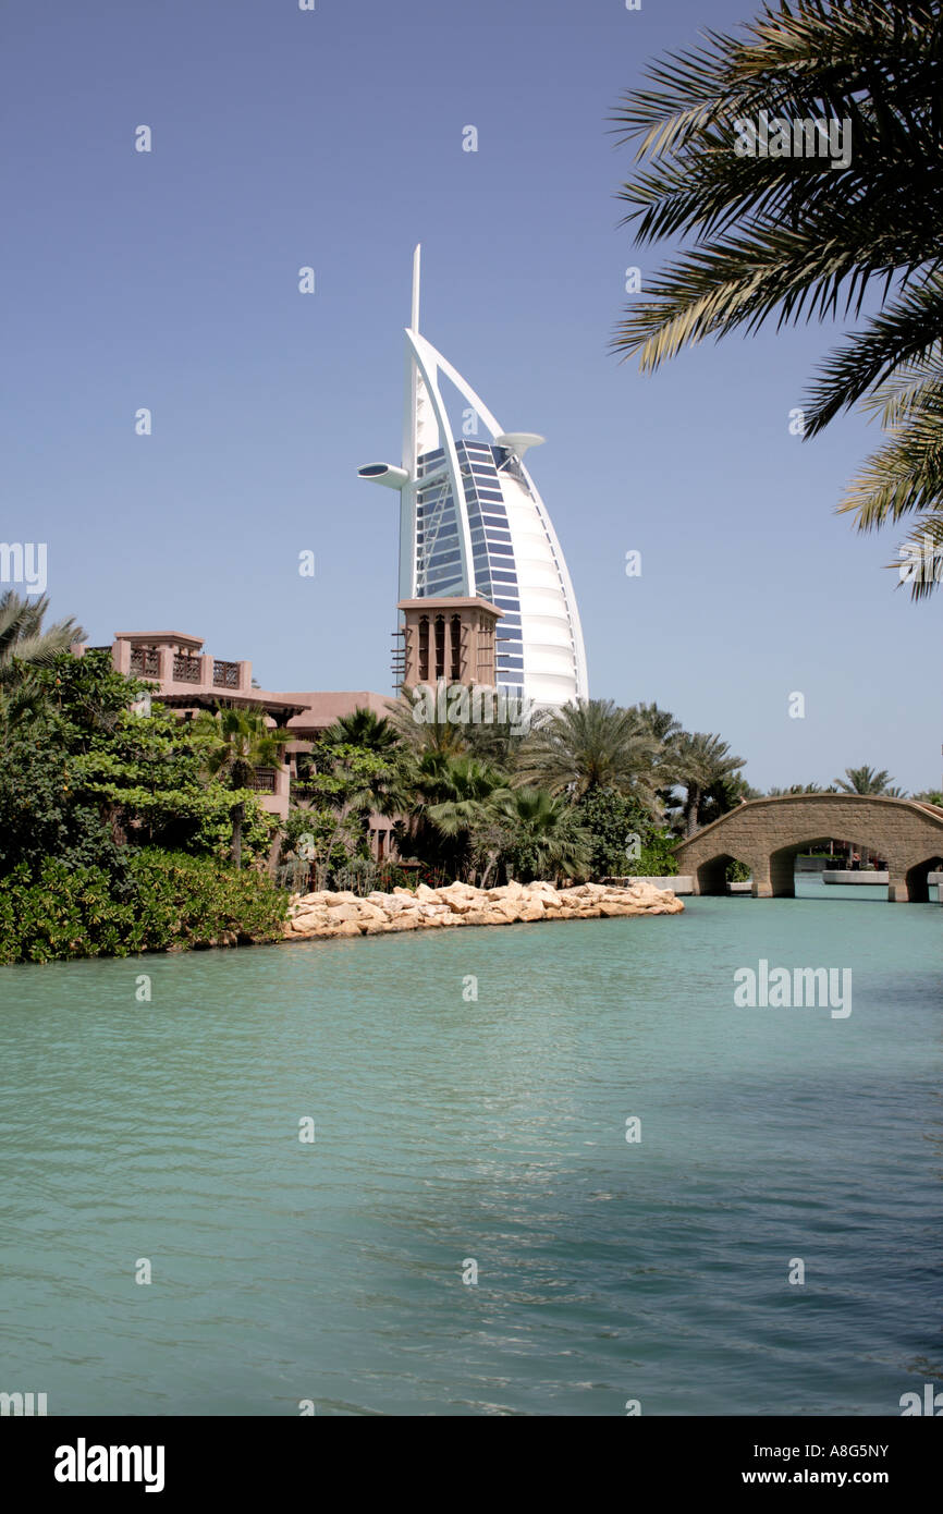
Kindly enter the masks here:
<path id="1" fill-rule="evenodd" d="M 286 940 L 335 936 L 384 936 L 392 931 L 453 928 L 456 925 L 522 925 L 536 921 L 596 921 L 628 914 L 681 914 L 684 905 L 669 889 L 649 883 L 615 887 L 581 883 L 556 889 L 552 883 L 509 883 L 501 889 L 474 889 L 450 883 L 413 893 L 304 893 L 295 895 L 285 925 Z"/>

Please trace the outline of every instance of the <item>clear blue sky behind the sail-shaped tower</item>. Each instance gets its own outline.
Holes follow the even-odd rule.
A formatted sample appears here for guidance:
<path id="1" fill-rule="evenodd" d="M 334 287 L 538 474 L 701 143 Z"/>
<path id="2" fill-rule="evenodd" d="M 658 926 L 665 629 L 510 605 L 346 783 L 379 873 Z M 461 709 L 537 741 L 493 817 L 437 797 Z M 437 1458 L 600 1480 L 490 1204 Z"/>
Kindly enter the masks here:
<path id="1" fill-rule="evenodd" d="M 720 733 L 758 787 L 864 762 L 938 784 L 943 600 L 911 604 L 884 568 L 898 537 L 834 515 L 879 433 L 789 433 L 837 332 L 654 377 L 607 347 L 625 268 L 661 256 L 618 227 L 631 157 L 607 117 L 646 61 L 751 11 L 12 0 L 0 534 L 48 542 L 53 615 L 92 643 L 204 636 L 265 687 L 389 692 L 397 497 L 356 469 L 398 459 L 422 241 L 425 335 L 506 427 L 546 436 L 533 472 L 590 692 Z"/>

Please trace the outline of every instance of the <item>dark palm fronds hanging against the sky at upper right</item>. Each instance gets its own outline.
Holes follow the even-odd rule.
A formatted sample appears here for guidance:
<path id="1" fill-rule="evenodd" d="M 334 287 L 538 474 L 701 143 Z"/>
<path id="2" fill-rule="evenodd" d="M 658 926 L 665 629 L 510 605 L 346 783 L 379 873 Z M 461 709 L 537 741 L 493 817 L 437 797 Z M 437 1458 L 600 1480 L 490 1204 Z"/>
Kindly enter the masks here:
<path id="1" fill-rule="evenodd" d="M 887 447 L 843 509 L 860 530 L 919 512 L 943 548 L 943 118 L 937 0 L 772 0 L 742 35 L 649 70 L 654 89 L 616 112 L 622 141 L 648 159 L 624 185 L 642 244 L 692 239 L 634 301 L 615 348 L 654 369 L 681 348 L 766 321 L 861 316 L 804 406 L 811 436 L 869 398 Z M 851 151 L 751 151 L 760 120 L 848 123 Z M 749 132 L 745 127 L 749 126 Z M 799 126 L 799 130 L 801 126 Z M 817 133 L 813 132 L 817 138 Z M 817 145 L 817 139 L 816 139 Z M 837 145 L 837 141 L 836 141 Z M 737 147 L 740 151 L 737 151 Z M 772 147 L 772 142 L 770 142 Z M 940 575 L 943 577 L 943 574 Z M 929 593 L 935 574 L 913 583 Z"/>

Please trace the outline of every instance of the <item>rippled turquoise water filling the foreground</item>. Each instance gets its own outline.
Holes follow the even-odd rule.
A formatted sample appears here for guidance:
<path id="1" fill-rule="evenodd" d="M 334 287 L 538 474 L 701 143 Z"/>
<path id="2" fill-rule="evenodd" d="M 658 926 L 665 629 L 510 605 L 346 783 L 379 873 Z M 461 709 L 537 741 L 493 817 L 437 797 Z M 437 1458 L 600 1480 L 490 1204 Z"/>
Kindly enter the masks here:
<path id="1" fill-rule="evenodd" d="M 828 893 L 0 969 L 0 1390 L 899 1414 L 943 1375 L 943 910 Z M 851 1016 L 734 1008 L 758 958 L 851 967 Z"/>

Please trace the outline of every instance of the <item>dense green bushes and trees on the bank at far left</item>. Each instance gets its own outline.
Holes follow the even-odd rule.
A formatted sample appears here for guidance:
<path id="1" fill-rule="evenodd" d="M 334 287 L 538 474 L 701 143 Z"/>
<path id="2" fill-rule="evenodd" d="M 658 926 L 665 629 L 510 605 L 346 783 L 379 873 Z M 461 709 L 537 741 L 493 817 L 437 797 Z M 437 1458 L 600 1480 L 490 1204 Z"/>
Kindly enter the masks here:
<path id="1" fill-rule="evenodd" d="M 73 622 L 47 639 L 41 619 L 5 595 L 0 961 L 275 939 L 288 899 L 266 869 L 274 822 L 216 762 L 216 722 L 142 713 L 144 683 L 107 653 L 73 657 Z"/>

